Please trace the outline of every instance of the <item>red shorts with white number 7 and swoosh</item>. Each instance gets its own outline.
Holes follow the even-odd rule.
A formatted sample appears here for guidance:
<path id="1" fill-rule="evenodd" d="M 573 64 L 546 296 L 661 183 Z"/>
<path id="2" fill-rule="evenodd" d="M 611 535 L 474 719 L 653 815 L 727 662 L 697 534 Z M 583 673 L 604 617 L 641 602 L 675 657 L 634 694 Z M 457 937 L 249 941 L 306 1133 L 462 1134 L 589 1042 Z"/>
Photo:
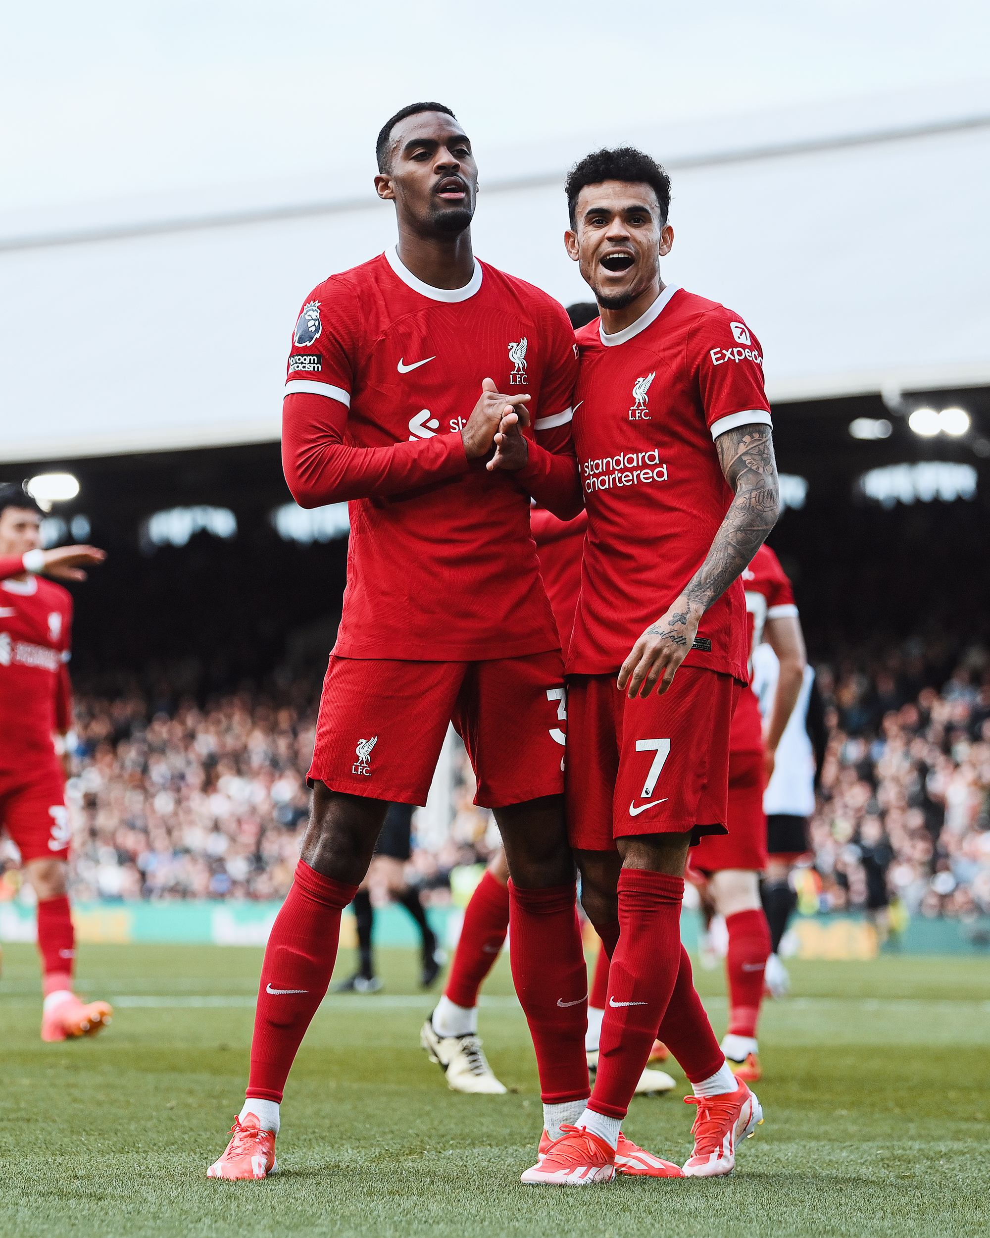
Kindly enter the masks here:
<path id="1" fill-rule="evenodd" d="M 611 851 L 630 834 L 725 832 L 730 675 L 682 666 L 663 696 L 630 701 L 616 675 L 575 675 L 567 697 L 570 846 Z"/>

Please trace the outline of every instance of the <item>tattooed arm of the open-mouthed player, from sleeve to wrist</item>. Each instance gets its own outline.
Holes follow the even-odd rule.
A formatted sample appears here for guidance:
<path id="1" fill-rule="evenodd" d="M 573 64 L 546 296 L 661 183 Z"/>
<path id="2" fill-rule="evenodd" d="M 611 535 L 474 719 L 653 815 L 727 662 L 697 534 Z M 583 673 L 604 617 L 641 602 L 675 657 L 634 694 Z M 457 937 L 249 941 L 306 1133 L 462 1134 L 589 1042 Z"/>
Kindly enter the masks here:
<path id="1" fill-rule="evenodd" d="M 684 594 L 707 610 L 749 566 L 780 514 L 777 465 L 770 426 L 739 426 L 715 447 L 725 480 L 735 490 L 708 556 Z"/>

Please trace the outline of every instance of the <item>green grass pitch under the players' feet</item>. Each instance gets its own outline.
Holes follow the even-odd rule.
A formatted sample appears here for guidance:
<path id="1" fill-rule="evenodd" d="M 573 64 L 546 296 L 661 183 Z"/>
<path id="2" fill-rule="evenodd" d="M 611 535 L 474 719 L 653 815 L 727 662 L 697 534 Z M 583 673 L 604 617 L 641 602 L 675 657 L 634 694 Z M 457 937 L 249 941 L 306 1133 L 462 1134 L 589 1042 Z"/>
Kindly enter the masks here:
<path id="1" fill-rule="evenodd" d="M 346 974 L 349 951 L 338 963 Z M 84 946 L 82 985 L 124 998 L 95 1040 L 43 1045 L 33 947 L 0 979 L 0 1232 L 249 1236 L 947 1236 L 990 1232 L 990 964 L 794 963 L 764 1015 L 766 1123 L 728 1179 L 523 1187 L 536 1063 L 502 957 L 481 1034 L 505 1097 L 449 1092 L 418 1046 L 429 995 L 381 951 L 384 993 L 330 998 L 288 1081 L 281 1172 L 218 1182 L 246 1081 L 257 950 Z M 695 969 L 717 1031 L 720 973 Z M 209 999 L 214 1004 L 204 1004 Z M 678 1084 L 683 1076 L 674 1071 Z M 689 1151 L 687 1087 L 625 1129 Z"/>

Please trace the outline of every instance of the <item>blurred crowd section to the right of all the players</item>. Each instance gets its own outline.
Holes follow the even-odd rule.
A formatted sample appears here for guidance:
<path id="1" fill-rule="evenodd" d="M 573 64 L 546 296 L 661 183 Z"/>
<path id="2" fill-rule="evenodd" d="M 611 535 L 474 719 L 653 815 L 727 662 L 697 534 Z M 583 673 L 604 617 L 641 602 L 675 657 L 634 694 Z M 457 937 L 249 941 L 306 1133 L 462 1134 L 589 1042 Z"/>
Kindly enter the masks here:
<path id="1" fill-rule="evenodd" d="M 811 823 L 804 910 L 897 917 L 990 914 L 990 656 L 968 651 L 940 688 L 907 647 L 819 667 L 829 743 Z"/>

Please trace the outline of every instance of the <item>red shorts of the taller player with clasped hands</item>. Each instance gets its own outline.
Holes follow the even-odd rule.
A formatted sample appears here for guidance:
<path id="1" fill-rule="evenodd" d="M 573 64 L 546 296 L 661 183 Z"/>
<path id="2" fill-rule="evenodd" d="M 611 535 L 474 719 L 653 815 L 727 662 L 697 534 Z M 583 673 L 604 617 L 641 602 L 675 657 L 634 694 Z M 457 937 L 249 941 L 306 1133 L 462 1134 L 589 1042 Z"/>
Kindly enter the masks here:
<path id="1" fill-rule="evenodd" d="M 486 808 L 563 794 L 567 742 L 558 649 L 484 662 L 330 655 L 307 777 L 333 791 L 426 803 L 453 722 Z"/>

